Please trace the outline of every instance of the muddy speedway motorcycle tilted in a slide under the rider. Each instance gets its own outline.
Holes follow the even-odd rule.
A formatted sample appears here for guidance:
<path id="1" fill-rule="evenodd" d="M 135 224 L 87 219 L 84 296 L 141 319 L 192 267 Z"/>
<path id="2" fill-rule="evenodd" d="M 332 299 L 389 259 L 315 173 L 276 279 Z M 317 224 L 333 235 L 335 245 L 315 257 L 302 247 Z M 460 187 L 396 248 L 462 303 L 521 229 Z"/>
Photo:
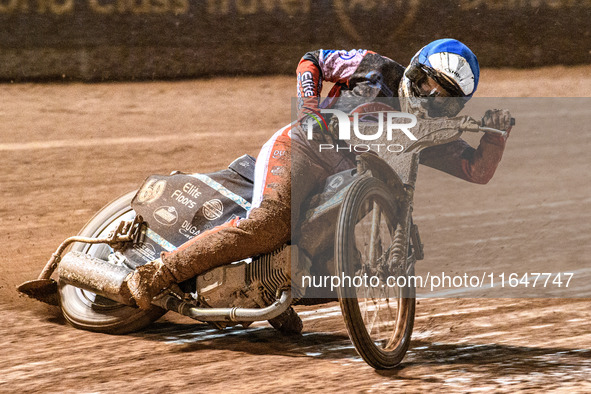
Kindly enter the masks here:
<path id="1" fill-rule="evenodd" d="M 414 275 L 416 261 L 423 258 L 412 221 L 420 151 L 466 131 L 504 133 L 468 120 L 421 122 L 413 128 L 416 141 L 406 141 L 400 152 L 358 155 L 356 168 L 329 177 L 324 190 L 307 202 L 300 228 L 301 234 L 312 236 L 175 285 L 154 299 L 149 310 L 135 307 L 123 285 L 127 276 L 160 252 L 245 217 L 254 158 L 242 156 L 211 174 L 150 176 L 138 191 L 106 205 L 77 236 L 66 239 L 38 279 L 18 290 L 59 305 L 74 327 L 113 334 L 141 330 L 167 311 L 220 329 L 265 320 L 281 329 L 281 317 L 291 306 L 338 298 L 359 355 L 376 369 L 394 368 L 409 347 L 414 324 L 410 281 L 404 287 L 340 286 L 327 299 L 310 297 L 300 279 L 321 260 L 331 260 L 336 277 L 369 275 L 385 283 L 387 277 Z"/>

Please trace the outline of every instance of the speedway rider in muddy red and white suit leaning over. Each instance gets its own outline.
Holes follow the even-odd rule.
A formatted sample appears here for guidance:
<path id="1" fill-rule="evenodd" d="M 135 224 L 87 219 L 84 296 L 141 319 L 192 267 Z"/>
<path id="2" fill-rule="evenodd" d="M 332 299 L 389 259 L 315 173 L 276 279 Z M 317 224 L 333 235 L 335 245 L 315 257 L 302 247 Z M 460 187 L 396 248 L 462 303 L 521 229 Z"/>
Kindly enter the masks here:
<path id="1" fill-rule="evenodd" d="M 417 52 L 406 69 L 368 50 L 308 52 L 298 64 L 297 77 L 303 116 L 319 108 L 322 82 L 329 81 L 335 85 L 324 106 L 334 108 L 339 97 L 362 97 L 366 101 L 399 97 L 405 98 L 401 109 L 406 112 L 454 117 L 476 91 L 479 65 L 467 46 L 457 40 L 441 39 Z M 425 102 L 424 97 L 433 99 Z M 438 101 L 439 97 L 455 99 Z M 506 110 L 489 110 L 483 123 L 510 131 L 510 119 Z M 469 182 L 485 184 L 501 160 L 505 142 L 506 137 L 485 133 L 476 149 L 460 139 L 425 149 L 420 162 Z M 277 131 L 257 157 L 253 208 L 248 217 L 205 231 L 178 249 L 163 252 L 160 259 L 138 267 L 127 279 L 137 305 L 149 308 L 151 300 L 173 283 L 272 252 L 289 242 L 292 213 L 294 218 L 299 217 L 303 200 L 321 188 L 328 176 L 355 166 L 354 158 L 342 152 L 319 155 L 317 143 L 307 140 L 304 127 L 297 121 Z M 298 159 L 292 160 L 296 155 Z"/>

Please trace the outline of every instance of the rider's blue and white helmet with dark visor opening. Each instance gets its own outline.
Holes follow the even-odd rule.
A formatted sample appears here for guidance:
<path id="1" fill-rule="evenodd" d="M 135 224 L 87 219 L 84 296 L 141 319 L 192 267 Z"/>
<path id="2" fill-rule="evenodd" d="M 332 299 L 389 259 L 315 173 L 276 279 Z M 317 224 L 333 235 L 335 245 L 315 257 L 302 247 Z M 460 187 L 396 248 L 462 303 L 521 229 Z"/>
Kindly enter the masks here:
<path id="1" fill-rule="evenodd" d="M 401 81 L 400 96 L 424 97 L 419 87 L 426 77 L 435 80 L 451 97 L 461 99 L 446 99 L 437 104 L 439 108 L 433 108 L 434 100 L 423 100 L 421 105 L 429 109 L 430 115 L 455 116 L 476 92 L 480 66 L 470 48 L 458 40 L 444 38 L 425 45 L 413 56 Z M 429 105 L 432 108 L 427 108 Z"/>

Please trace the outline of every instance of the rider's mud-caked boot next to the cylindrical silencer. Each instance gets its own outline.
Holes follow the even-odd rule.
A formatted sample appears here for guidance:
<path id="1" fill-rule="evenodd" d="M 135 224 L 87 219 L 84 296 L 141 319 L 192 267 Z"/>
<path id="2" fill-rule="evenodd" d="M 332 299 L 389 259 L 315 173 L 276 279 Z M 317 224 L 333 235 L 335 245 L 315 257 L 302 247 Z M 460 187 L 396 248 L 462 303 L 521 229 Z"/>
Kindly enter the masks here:
<path id="1" fill-rule="evenodd" d="M 175 283 L 174 276 L 162 260 L 156 259 L 137 267 L 125 280 L 125 285 L 140 309 L 149 309 L 152 300 Z"/>

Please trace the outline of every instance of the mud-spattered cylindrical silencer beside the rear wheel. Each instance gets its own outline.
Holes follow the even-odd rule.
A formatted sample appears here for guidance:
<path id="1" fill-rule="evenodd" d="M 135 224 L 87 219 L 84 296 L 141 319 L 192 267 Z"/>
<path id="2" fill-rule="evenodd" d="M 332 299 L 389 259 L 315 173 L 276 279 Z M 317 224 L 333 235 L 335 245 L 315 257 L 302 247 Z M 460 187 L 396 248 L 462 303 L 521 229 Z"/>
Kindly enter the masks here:
<path id="1" fill-rule="evenodd" d="M 130 268 L 123 265 L 80 252 L 67 253 L 58 266 L 62 282 L 125 305 L 135 305 L 127 286 L 123 285 L 131 272 Z"/>

